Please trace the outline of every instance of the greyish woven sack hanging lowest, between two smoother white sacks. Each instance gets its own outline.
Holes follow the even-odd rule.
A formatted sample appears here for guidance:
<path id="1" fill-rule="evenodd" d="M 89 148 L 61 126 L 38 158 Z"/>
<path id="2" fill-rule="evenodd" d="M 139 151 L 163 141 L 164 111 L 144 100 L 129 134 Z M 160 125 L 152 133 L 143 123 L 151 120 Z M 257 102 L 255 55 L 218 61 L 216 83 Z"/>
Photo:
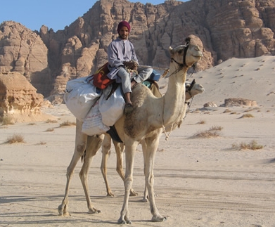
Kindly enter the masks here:
<path id="1" fill-rule="evenodd" d="M 98 103 L 98 100 L 94 103 L 82 124 L 82 132 L 89 136 L 103 134 L 110 129 L 110 127 L 102 123 L 101 112 L 98 110 Z"/>

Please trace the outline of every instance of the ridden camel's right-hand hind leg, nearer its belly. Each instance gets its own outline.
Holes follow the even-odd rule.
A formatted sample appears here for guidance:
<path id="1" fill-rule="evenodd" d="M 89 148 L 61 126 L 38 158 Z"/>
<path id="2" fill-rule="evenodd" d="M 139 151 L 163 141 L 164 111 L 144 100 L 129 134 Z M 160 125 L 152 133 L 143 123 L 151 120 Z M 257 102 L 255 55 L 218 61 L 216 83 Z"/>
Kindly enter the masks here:
<path id="1" fill-rule="evenodd" d="M 91 167 L 91 162 L 96 155 L 97 151 L 101 147 L 104 135 L 96 135 L 96 136 L 88 136 L 87 139 L 87 148 L 86 153 L 83 161 L 82 168 L 79 172 L 79 177 L 81 179 L 81 183 L 84 189 L 87 207 L 89 209 L 89 214 L 100 213 L 101 211 L 96 209 L 94 205 L 91 203 L 91 198 L 89 196 L 89 187 L 88 187 L 88 175 L 89 175 L 89 168 Z"/>

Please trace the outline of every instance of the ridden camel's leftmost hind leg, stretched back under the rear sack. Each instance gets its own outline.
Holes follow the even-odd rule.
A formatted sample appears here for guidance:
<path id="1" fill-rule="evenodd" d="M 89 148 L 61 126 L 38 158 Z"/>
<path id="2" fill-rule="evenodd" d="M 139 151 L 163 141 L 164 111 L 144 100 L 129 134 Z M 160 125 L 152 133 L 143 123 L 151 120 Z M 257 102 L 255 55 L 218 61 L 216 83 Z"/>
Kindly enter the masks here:
<path id="1" fill-rule="evenodd" d="M 77 120 L 77 126 L 75 129 L 75 153 L 72 155 L 72 160 L 67 168 L 67 183 L 65 187 L 65 195 L 63 198 L 62 203 L 58 206 L 58 213 L 60 215 L 67 216 L 68 213 L 68 197 L 69 197 L 69 188 L 70 188 L 70 181 L 75 171 L 75 166 L 79 161 L 80 157 L 84 155 L 84 150 L 87 145 L 87 135 L 82 134 L 82 122 Z"/>

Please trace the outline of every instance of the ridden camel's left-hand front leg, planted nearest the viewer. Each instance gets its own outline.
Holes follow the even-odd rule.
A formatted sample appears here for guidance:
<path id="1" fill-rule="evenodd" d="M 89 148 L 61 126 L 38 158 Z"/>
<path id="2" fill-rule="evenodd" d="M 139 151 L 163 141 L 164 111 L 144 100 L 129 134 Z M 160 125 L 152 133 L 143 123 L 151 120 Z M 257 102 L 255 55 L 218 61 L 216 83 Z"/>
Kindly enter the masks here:
<path id="1" fill-rule="evenodd" d="M 125 179 L 124 179 L 124 202 L 122 210 L 120 212 L 120 219 L 118 223 L 120 224 L 130 224 L 129 220 L 129 195 L 133 183 L 133 170 L 134 170 L 134 154 L 136 152 L 136 146 L 139 144 L 132 138 L 125 136 L 125 158 L 126 158 L 126 169 L 125 169 Z"/>

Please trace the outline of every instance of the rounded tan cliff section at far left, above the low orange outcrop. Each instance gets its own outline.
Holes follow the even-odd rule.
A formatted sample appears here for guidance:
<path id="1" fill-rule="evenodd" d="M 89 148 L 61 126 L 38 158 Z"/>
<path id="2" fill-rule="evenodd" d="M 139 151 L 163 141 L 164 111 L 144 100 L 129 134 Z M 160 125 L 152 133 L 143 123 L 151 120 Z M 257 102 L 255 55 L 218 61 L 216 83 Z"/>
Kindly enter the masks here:
<path id="1" fill-rule="evenodd" d="M 52 89 L 48 48 L 41 37 L 16 22 L 0 25 L 0 73 L 23 74 L 39 93 Z"/>

